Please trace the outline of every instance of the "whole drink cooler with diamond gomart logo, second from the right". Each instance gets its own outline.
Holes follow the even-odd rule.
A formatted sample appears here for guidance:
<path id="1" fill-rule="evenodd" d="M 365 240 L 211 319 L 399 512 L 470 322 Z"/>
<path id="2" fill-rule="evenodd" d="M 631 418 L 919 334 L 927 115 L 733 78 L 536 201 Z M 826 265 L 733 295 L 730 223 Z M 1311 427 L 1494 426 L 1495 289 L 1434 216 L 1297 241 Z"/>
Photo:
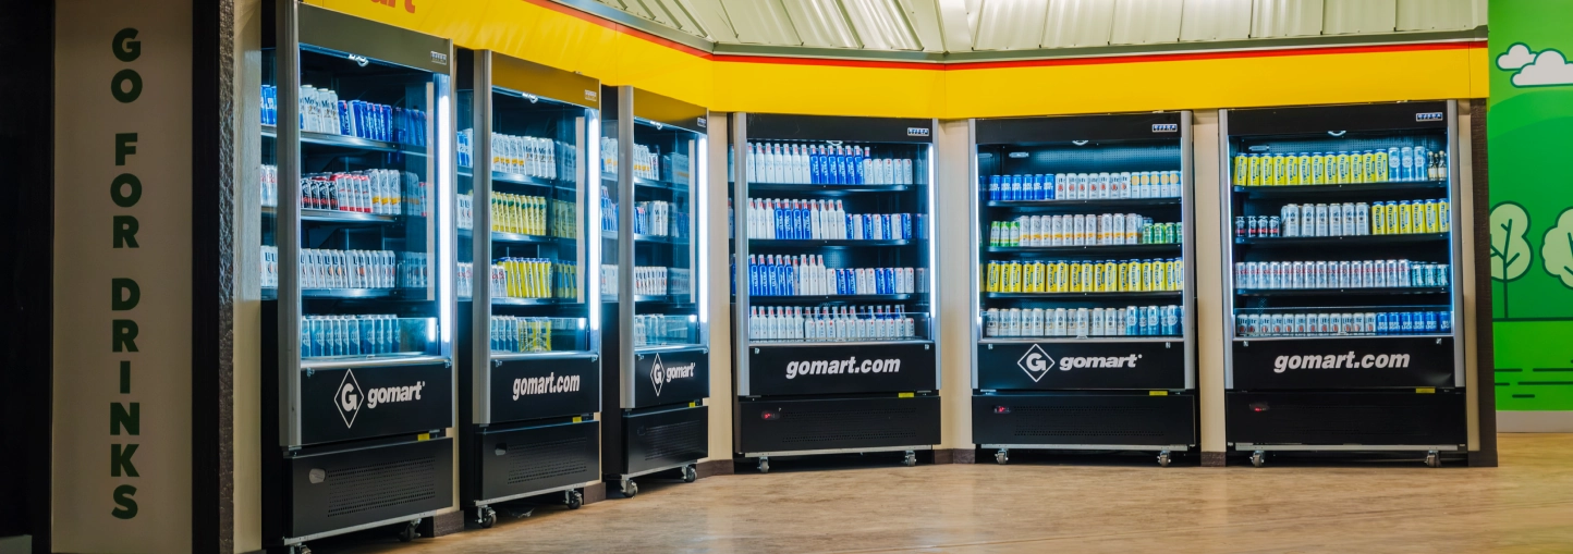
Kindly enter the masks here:
<path id="1" fill-rule="evenodd" d="M 972 121 L 972 438 L 1197 444 L 1191 112 Z"/>

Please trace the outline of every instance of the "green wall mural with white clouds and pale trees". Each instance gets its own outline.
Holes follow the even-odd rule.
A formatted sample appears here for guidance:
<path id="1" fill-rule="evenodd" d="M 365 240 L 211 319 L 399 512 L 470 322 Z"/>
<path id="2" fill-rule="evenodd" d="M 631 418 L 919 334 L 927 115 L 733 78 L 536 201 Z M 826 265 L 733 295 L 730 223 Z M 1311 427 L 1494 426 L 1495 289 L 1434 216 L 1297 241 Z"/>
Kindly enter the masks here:
<path id="1" fill-rule="evenodd" d="M 1573 411 L 1573 2 L 1491 2 L 1497 409 Z"/>

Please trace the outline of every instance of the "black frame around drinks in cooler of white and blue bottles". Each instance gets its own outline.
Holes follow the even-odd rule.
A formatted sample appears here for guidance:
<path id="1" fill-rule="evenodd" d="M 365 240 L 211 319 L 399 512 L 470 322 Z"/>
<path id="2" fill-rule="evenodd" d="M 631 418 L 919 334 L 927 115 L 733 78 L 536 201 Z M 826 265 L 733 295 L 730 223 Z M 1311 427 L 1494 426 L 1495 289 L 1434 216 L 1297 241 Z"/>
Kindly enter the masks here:
<path id="1" fill-rule="evenodd" d="M 939 414 L 939 343 L 938 319 L 930 318 L 922 340 L 862 342 L 753 342 L 749 338 L 749 313 L 755 296 L 749 294 L 747 260 L 755 244 L 769 252 L 824 253 L 826 258 L 856 263 L 860 257 L 889 261 L 900 255 L 901 266 L 923 268 L 914 286 L 922 293 L 887 294 L 889 299 L 837 296 L 780 297 L 760 296 L 760 305 L 793 305 L 804 302 L 903 302 L 922 305 L 933 315 L 938 307 L 936 258 L 931 233 L 934 219 L 934 120 L 925 118 L 862 118 L 774 113 L 733 113 L 731 124 L 735 211 L 733 257 L 736 260 L 733 294 L 733 450 L 738 456 L 760 458 L 768 471 L 771 456 L 820 455 L 842 452 L 930 450 L 941 444 Z M 752 140 L 815 140 L 859 142 L 879 145 L 911 145 L 919 150 L 911 186 L 815 186 L 752 183 L 747 176 L 749 143 Z M 761 179 L 763 181 L 763 179 Z M 755 186 L 758 186 L 755 189 Z M 901 241 L 774 241 L 747 236 L 749 198 L 783 195 L 818 198 L 820 195 L 868 194 L 897 198 L 926 220 L 912 223 L 912 239 Z M 922 228 L 928 227 L 928 228 Z M 786 250 L 780 250 L 786 249 Z M 923 283 L 917 283 L 922 280 Z M 826 375 L 820 367 L 837 362 L 838 370 Z M 868 362 L 895 360 L 895 370 L 868 367 Z M 820 364 L 823 362 L 823 364 Z M 796 368 L 802 367 L 802 373 Z"/>

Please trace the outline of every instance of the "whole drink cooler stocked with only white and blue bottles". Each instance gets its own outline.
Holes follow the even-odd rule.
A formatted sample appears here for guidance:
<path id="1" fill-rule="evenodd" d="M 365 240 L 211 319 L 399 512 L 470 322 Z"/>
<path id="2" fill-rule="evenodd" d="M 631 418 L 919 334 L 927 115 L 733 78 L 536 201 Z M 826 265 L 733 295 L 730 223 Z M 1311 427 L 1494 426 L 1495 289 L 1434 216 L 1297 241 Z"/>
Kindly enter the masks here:
<path id="1" fill-rule="evenodd" d="M 939 444 L 933 129 L 735 115 L 733 433 L 761 472 Z"/>

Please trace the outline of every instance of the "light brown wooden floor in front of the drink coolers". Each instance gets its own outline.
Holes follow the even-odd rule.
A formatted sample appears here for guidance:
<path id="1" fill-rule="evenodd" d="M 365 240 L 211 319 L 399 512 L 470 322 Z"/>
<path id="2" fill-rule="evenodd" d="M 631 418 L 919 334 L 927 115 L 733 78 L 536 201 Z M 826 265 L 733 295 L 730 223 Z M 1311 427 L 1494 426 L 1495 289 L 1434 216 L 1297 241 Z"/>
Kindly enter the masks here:
<path id="1" fill-rule="evenodd" d="M 692 485 L 648 482 L 634 499 L 541 508 L 486 530 L 333 551 L 1573 552 L 1573 434 L 1502 434 L 1501 467 L 1488 469 L 774 466 L 768 475 L 739 466 L 749 471 Z"/>

